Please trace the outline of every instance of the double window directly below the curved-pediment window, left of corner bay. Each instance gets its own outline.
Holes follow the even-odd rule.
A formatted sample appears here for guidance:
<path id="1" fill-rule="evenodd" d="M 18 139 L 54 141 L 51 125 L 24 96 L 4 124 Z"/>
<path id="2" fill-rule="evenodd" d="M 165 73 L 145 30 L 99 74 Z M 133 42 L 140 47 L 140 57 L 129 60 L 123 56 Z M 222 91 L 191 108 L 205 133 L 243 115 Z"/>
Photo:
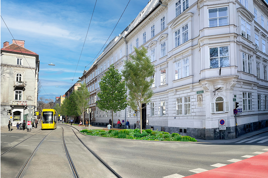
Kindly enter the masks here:
<path id="1" fill-rule="evenodd" d="M 189 76 L 189 59 L 185 58 L 175 62 L 175 80 L 187 76 Z"/>

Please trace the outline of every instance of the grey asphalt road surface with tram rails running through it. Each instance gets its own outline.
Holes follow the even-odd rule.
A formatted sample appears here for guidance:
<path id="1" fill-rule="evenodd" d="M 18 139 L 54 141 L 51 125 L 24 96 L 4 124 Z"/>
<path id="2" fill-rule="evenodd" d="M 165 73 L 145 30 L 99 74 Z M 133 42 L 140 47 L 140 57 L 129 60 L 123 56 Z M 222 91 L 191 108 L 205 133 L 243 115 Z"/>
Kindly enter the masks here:
<path id="1" fill-rule="evenodd" d="M 80 143 L 70 127 L 60 126 L 64 128 L 66 147 L 81 178 L 114 177 Z M 35 147 L 50 131 L 27 166 L 24 177 L 72 177 L 63 147 L 61 127 L 40 131 L 40 134 L 2 155 L 1 177 L 15 177 Z M 259 154 L 256 152 L 268 151 L 268 142 L 264 142 L 268 139 L 268 132 L 239 143 L 236 141 L 226 144 L 111 139 L 85 136 L 77 130 L 75 132 L 121 177 L 169 178 L 173 174 L 189 176 L 196 174 L 198 170 L 215 169 L 215 164 L 218 163 L 228 165 L 234 162 L 233 159 L 244 160 L 248 157 L 246 155 L 255 156 Z M 1 133 L 1 153 L 33 134 L 35 133 Z"/>

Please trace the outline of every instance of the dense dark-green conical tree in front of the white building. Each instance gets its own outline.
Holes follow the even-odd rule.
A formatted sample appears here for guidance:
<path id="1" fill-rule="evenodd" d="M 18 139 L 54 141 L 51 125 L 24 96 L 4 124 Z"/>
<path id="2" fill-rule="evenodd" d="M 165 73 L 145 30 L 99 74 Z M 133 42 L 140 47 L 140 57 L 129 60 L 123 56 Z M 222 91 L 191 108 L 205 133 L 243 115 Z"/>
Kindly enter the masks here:
<path id="1" fill-rule="evenodd" d="M 100 98 L 97 101 L 97 107 L 101 110 L 112 111 L 112 128 L 113 112 L 121 111 L 127 107 L 127 89 L 122 76 L 113 64 L 105 72 L 104 77 L 99 82 L 101 91 L 97 94 Z"/>

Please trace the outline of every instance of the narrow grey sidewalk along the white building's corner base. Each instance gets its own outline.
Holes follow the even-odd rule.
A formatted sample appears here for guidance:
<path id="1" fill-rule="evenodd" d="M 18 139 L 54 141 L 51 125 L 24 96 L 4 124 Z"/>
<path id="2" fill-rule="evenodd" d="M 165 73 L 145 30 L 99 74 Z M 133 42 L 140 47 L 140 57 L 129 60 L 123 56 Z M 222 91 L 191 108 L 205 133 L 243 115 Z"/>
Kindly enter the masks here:
<path id="1" fill-rule="evenodd" d="M 268 132 L 268 127 L 265 128 L 261 128 L 258 131 L 253 131 L 253 132 L 249 132 L 247 134 L 241 135 L 238 138 L 235 139 L 228 139 L 228 140 L 204 140 L 204 139 L 196 139 L 197 142 L 205 142 L 205 143 L 231 143 L 231 142 L 237 142 L 239 140 L 254 136 L 254 135 L 258 135 L 258 134 L 262 134 L 264 132 Z"/>

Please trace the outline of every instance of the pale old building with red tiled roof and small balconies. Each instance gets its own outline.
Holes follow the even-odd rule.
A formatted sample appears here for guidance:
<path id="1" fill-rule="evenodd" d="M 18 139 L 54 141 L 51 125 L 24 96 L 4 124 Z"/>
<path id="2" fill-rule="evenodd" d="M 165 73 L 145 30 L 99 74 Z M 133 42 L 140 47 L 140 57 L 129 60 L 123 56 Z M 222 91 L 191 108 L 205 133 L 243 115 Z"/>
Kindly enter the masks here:
<path id="1" fill-rule="evenodd" d="M 39 55 L 26 49 L 23 40 L 4 42 L 1 48 L 1 127 L 7 126 L 11 109 L 13 126 L 32 120 L 37 111 Z"/>

